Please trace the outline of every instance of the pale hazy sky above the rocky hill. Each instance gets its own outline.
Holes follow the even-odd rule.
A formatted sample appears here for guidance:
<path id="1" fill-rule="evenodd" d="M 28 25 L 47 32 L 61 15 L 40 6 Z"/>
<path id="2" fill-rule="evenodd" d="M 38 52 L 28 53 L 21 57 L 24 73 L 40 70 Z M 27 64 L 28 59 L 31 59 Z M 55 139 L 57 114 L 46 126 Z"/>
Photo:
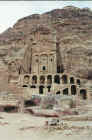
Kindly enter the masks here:
<path id="1" fill-rule="evenodd" d="M 69 5 L 92 9 L 92 1 L 0 1 L 0 33 L 22 17 Z"/>

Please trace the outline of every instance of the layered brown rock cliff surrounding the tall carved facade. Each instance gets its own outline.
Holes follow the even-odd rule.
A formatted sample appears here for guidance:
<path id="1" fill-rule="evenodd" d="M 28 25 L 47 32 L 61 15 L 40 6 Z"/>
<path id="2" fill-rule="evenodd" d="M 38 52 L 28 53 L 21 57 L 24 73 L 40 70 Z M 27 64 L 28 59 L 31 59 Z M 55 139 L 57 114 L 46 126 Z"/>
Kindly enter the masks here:
<path id="1" fill-rule="evenodd" d="M 71 6 L 41 15 L 35 14 L 24 17 L 17 21 L 13 28 L 7 29 L 0 35 L 1 77 L 8 73 L 8 63 L 11 60 L 15 61 L 15 59 L 17 59 L 17 67 L 22 66 L 22 72 L 28 72 L 28 65 L 31 63 L 29 60 L 32 53 L 31 46 L 33 42 L 35 44 L 33 33 L 38 27 L 43 30 L 43 34 L 49 32 L 46 28 L 42 28 L 43 26 L 56 34 L 58 66 L 76 76 L 91 78 L 92 12 L 89 9 Z M 35 48 L 34 45 L 33 47 L 35 51 L 37 49 L 40 51 L 47 50 L 43 46 L 38 45 Z"/>

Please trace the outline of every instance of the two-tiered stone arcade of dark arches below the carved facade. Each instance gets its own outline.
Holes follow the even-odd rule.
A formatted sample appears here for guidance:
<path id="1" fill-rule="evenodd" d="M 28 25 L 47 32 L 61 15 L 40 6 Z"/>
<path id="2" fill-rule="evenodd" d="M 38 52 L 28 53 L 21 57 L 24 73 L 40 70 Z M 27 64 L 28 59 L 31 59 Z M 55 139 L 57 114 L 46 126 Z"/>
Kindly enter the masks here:
<path id="1" fill-rule="evenodd" d="M 87 99 L 87 89 L 80 88 L 81 80 L 68 74 L 26 74 L 21 77 L 21 84 L 23 87 L 29 87 L 32 94 L 79 95 L 81 99 Z"/>

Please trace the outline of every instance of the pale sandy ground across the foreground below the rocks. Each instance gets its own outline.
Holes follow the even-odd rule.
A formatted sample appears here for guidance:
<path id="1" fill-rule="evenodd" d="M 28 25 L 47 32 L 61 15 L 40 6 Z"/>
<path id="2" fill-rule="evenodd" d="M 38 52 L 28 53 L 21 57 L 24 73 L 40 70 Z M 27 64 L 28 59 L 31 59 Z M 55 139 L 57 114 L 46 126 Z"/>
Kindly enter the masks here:
<path id="1" fill-rule="evenodd" d="M 0 113 L 0 117 L 2 140 L 92 140 L 92 122 L 66 121 L 69 127 L 77 126 L 78 129 L 66 126 L 63 130 L 52 130 L 45 126 L 48 118 L 23 113 Z"/>

